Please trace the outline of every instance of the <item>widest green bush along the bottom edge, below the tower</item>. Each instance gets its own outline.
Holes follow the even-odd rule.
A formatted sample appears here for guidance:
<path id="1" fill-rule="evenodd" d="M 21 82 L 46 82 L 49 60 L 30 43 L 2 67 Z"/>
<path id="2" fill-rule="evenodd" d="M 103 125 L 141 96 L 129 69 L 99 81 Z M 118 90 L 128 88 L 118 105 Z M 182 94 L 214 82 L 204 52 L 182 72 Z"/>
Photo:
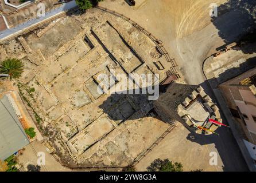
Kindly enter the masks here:
<path id="1" fill-rule="evenodd" d="M 180 162 L 172 162 L 168 159 L 154 160 L 147 168 L 148 172 L 183 172 L 183 165 Z"/>

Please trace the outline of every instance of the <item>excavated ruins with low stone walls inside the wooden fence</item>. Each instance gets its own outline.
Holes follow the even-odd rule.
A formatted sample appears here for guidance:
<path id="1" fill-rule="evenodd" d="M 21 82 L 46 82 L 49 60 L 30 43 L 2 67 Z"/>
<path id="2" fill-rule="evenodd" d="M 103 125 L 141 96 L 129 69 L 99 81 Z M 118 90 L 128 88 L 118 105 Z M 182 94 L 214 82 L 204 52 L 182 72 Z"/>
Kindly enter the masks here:
<path id="1" fill-rule="evenodd" d="M 2 59 L 21 53 L 25 72 L 15 87 L 64 163 L 126 166 L 169 128 L 150 116 L 153 105 L 145 94 L 108 92 L 115 87 L 129 90 L 128 73 L 159 74 L 161 80 L 171 66 L 149 37 L 121 18 L 91 9 L 58 19 L 1 49 Z M 104 86 L 101 73 L 115 83 Z M 141 86 L 135 78 L 134 84 Z"/>

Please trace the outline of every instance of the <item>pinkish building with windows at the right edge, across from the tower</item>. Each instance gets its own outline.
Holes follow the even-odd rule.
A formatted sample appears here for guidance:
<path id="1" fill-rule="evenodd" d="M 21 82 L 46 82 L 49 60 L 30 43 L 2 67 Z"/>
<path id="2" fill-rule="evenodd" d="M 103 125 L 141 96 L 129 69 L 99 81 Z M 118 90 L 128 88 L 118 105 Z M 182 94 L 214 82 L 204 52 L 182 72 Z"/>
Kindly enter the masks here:
<path id="1" fill-rule="evenodd" d="M 256 68 L 221 85 L 219 89 L 251 157 L 256 161 Z"/>

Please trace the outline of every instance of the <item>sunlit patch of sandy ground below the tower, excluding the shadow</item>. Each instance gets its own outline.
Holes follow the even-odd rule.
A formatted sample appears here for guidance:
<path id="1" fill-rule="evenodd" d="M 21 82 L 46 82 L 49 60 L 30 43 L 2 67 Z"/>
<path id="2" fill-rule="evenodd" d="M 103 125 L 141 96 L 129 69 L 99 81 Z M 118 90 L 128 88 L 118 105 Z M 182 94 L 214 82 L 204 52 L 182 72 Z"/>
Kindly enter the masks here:
<path id="1" fill-rule="evenodd" d="M 222 172 L 223 162 L 218 154 L 218 165 L 210 165 L 210 153 L 218 152 L 214 144 L 200 145 L 189 141 L 191 133 L 183 126 L 172 130 L 163 141 L 161 141 L 152 152 L 143 158 L 135 166 L 138 171 L 146 171 L 146 168 L 156 157 L 162 160 L 168 158 L 170 161 L 181 162 L 184 171 L 201 169 L 204 172 Z M 200 138 L 200 137 L 199 137 Z M 169 149 L 169 150 L 168 150 Z M 175 149 L 175 150 L 173 150 Z M 179 153 L 177 153 L 179 152 Z"/>

